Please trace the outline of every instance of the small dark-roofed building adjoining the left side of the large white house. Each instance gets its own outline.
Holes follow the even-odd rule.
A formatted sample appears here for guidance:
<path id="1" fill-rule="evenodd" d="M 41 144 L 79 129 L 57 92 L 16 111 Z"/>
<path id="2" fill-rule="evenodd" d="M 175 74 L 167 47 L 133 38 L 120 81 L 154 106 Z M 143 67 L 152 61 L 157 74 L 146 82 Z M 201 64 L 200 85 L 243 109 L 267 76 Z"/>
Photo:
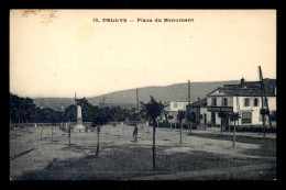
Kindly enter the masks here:
<path id="1" fill-rule="evenodd" d="M 190 114 L 194 115 L 195 121 L 194 123 L 196 125 L 204 125 L 204 124 L 210 124 L 211 123 L 211 114 L 208 112 L 207 109 L 207 98 L 201 99 L 198 101 L 195 101 L 194 103 L 190 103 L 189 105 Z M 201 118 L 200 118 L 201 115 Z"/>

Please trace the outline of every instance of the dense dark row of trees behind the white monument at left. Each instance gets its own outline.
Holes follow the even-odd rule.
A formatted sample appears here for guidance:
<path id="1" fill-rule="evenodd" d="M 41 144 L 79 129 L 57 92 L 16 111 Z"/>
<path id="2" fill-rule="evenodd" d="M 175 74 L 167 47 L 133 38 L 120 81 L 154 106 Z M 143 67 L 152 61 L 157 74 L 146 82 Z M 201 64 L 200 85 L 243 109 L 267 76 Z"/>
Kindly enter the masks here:
<path id="1" fill-rule="evenodd" d="M 77 99 L 77 104 L 81 105 L 82 122 L 92 122 L 95 112 L 99 109 L 88 102 L 86 98 Z M 144 113 L 136 113 L 135 109 L 122 109 L 121 107 L 105 107 L 108 122 L 139 121 L 146 118 Z M 10 123 L 59 123 L 76 122 L 77 107 L 70 104 L 64 111 L 56 111 L 51 108 L 38 108 L 33 99 L 21 98 L 10 93 Z"/>

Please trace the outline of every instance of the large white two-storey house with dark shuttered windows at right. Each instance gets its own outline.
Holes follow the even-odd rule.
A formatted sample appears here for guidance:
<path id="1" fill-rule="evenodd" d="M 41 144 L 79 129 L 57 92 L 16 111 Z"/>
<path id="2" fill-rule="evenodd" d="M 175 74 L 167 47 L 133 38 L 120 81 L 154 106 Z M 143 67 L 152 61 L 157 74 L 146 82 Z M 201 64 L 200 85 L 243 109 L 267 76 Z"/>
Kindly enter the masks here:
<path id="1" fill-rule="evenodd" d="M 276 111 L 276 80 L 264 79 L 264 87 L 270 111 Z M 207 94 L 207 107 L 211 113 L 212 125 L 221 124 L 219 111 L 239 112 L 240 125 L 262 125 L 261 103 L 261 82 L 245 82 L 243 78 L 241 83 L 224 85 Z M 265 101 L 263 104 L 263 108 L 266 108 Z M 222 120 L 222 124 L 229 124 L 229 120 Z"/>

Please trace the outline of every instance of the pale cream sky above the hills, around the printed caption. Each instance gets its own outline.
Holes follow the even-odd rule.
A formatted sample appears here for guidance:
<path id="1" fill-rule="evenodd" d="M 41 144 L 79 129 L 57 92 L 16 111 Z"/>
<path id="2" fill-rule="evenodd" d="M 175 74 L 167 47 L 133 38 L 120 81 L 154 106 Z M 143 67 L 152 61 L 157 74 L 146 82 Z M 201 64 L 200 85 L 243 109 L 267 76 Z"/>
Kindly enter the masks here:
<path id="1" fill-rule="evenodd" d="M 73 98 L 76 91 L 88 98 L 188 80 L 254 81 L 257 66 L 264 78 L 276 78 L 275 10 L 25 11 L 10 11 L 10 91 L 21 97 Z"/>

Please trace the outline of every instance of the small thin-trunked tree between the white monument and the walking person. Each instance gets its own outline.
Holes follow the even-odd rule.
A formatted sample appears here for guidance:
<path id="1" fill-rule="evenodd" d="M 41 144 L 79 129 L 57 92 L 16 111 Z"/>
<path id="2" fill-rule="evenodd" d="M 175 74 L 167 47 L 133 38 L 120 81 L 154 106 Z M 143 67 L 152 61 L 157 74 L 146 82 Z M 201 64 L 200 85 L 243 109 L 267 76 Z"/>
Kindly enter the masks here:
<path id="1" fill-rule="evenodd" d="M 94 119 L 92 119 L 92 124 L 91 127 L 96 127 L 97 130 L 97 150 L 96 150 L 96 156 L 99 155 L 99 135 L 101 132 L 101 126 L 108 123 L 108 114 L 106 113 L 106 109 L 95 109 L 94 112 Z"/>

